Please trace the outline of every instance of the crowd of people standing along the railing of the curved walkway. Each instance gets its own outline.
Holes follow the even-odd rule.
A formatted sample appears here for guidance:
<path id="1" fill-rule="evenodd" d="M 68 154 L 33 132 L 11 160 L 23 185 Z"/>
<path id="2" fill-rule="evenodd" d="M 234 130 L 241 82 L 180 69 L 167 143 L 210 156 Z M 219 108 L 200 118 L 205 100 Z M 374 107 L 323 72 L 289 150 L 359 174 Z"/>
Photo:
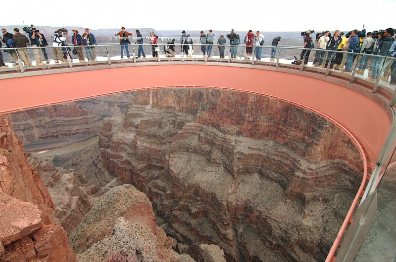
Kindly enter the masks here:
<path id="1" fill-rule="evenodd" d="M 6 47 L 39 47 L 32 48 L 36 65 L 45 65 L 49 63 L 50 59 L 46 52 L 45 48 L 40 48 L 43 46 L 48 46 L 48 42 L 43 34 L 40 33 L 39 30 L 34 28 L 24 28 L 28 37 L 22 35 L 19 32 L 18 28 L 14 28 L 14 34 L 8 33 L 5 29 L 2 29 L 1 32 L 3 36 L 1 37 L 1 42 L 5 43 Z M 140 34 L 139 30 L 136 30 L 136 41 L 135 44 L 138 44 L 138 58 L 146 58 L 146 54 L 143 50 L 143 37 Z M 313 66 L 315 67 L 323 67 L 333 70 L 342 70 L 345 74 L 351 74 L 352 65 L 354 60 L 356 59 L 357 54 L 377 54 L 381 56 L 392 56 L 395 57 L 395 38 L 394 30 L 389 28 L 385 30 L 383 34 L 377 35 L 376 38 L 373 38 L 373 34 L 371 32 L 365 34 L 364 31 L 359 32 L 357 30 L 353 30 L 349 32 L 349 36 L 344 36 L 343 32 L 339 30 L 334 31 L 333 35 L 330 34 L 329 31 L 325 31 L 323 33 L 318 33 L 316 35 L 316 39 L 313 40 L 311 37 L 311 31 L 306 31 L 303 36 L 304 44 L 303 51 L 301 52 L 300 59 L 303 60 L 304 65 L 307 65 L 308 58 L 310 52 L 313 48 L 315 48 L 315 44 L 317 45 L 315 58 L 313 60 Z M 302 33 L 303 34 L 303 33 Z M 114 34 L 115 36 L 119 36 L 119 43 L 121 47 L 121 60 L 124 59 L 124 49 L 126 51 L 127 59 L 131 59 L 128 46 L 131 44 L 129 39 L 130 36 L 134 37 L 135 34 L 127 32 L 124 27 L 121 28 L 121 31 Z M 226 35 L 226 37 L 230 40 L 230 58 L 236 59 L 238 45 L 241 43 L 241 38 L 238 34 L 236 34 L 233 30 L 230 34 Z M 68 46 L 67 41 L 71 39 L 73 46 Z M 157 36 L 155 33 L 150 33 L 150 45 L 152 47 L 152 57 L 158 57 L 159 47 L 157 43 Z M 30 43 L 29 43 L 30 41 Z M 175 39 L 172 41 L 168 41 L 164 45 L 164 53 L 166 57 L 174 57 L 175 56 Z M 256 31 L 256 34 L 253 34 L 252 30 L 247 32 L 247 35 L 243 39 L 245 43 L 245 57 L 244 59 L 250 60 L 254 59 L 256 61 L 261 60 L 262 54 L 262 46 L 264 45 L 264 36 L 260 34 L 259 31 Z M 275 37 L 271 46 L 271 57 L 270 61 L 274 62 L 276 57 L 276 46 L 280 44 L 281 37 Z M 1 47 L 0 42 L 0 47 Z M 182 44 L 182 52 L 186 54 L 187 57 L 192 57 L 194 54 L 194 45 L 193 39 L 189 34 L 186 34 L 186 31 L 182 31 L 181 42 Z M 199 43 L 201 44 L 200 50 L 203 54 L 203 57 L 210 58 L 212 56 L 212 47 L 215 43 L 215 36 L 212 30 L 209 30 L 207 34 L 203 31 L 200 32 Z M 220 58 L 225 58 L 225 44 L 226 38 L 223 34 L 221 34 L 217 39 L 217 46 L 219 48 Z M 86 57 L 88 61 L 96 61 L 95 54 L 95 46 L 96 39 L 95 36 L 90 33 L 89 29 L 85 29 L 82 35 L 79 34 L 77 29 L 72 30 L 72 35 L 69 37 L 69 33 L 66 29 L 59 29 L 55 32 L 53 37 L 52 48 L 53 50 L 53 60 L 55 63 L 65 63 L 67 61 L 67 57 L 70 57 L 70 51 L 74 55 L 78 56 L 80 62 L 85 61 L 85 57 L 83 54 L 83 50 L 85 50 Z M 254 54 L 253 54 L 253 46 Z M 73 48 L 73 50 L 71 49 Z M 331 52 L 325 51 L 330 50 Z M 341 52 L 336 52 L 333 55 L 333 51 L 348 51 L 346 55 Z M 15 61 L 14 65 L 18 63 L 18 55 L 19 58 L 23 61 L 25 66 L 32 66 L 32 62 L 29 57 L 29 53 L 27 49 L 18 49 L 18 55 L 16 54 L 16 50 L 7 50 L 10 54 L 11 59 Z M 254 57 L 253 57 L 254 55 Z M 46 63 L 45 63 L 46 62 Z M 384 62 L 383 57 L 368 57 L 363 56 L 359 60 L 357 74 L 363 74 L 364 70 L 369 66 L 370 74 L 367 79 L 375 81 L 379 71 L 382 67 L 382 63 Z M 371 63 L 371 65 L 370 65 Z M 344 67 L 345 65 L 345 67 Z M 2 59 L 2 53 L 0 52 L 0 68 L 6 68 L 7 65 L 4 64 Z M 385 70 L 384 76 L 382 76 L 383 80 L 387 80 L 391 75 L 391 83 L 396 83 L 396 63 L 389 65 Z M 392 75 L 394 77 L 392 77 Z"/>

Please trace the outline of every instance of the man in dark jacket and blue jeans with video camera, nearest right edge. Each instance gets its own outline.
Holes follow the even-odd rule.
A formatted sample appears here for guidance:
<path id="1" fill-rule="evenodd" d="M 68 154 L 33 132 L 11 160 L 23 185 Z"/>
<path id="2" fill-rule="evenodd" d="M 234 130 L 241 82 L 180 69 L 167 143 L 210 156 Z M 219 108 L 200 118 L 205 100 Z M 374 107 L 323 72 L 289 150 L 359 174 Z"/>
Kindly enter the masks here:
<path id="1" fill-rule="evenodd" d="M 384 56 L 384 57 L 387 56 L 387 54 L 389 52 L 389 48 L 392 45 L 393 33 L 394 33 L 394 30 L 392 28 L 388 28 L 385 30 L 384 35 L 382 35 L 382 34 L 378 35 L 377 48 L 374 50 L 373 54 Z M 383 60 L 384 60 L 384 58 L 382 58 L 382 57 L 374 57 L 373 58 L 373 62 L 371 63 L 372 75 L 370 77 L 367 77 L 368 80 L 375 81 L 377 79 L 377 76 L 380 73 L 380 70 L 382 67 Z"/>

